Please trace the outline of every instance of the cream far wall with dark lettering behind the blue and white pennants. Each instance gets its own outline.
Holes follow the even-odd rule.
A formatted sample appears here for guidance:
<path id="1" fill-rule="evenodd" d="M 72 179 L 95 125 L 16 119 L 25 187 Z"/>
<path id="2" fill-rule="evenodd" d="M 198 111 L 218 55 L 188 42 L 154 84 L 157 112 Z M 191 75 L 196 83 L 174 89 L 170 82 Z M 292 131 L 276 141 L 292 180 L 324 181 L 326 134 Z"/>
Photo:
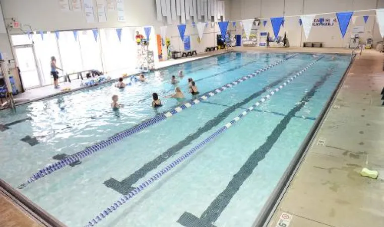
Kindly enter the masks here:
<path id="1" fill-rule="evenodd" d="M 230 20 L 242 20 L 258 18 L 268 18 L 266 28 L 261 26 L 261 30 L 270 32 L 273 35 L 271 17 L 294 16 L 305 14 L 318 14 L 329 12 L 343 12 L 355 10 L 384 8 L 384 0 L 232 0 Z M 375 15 L 374 11 L 357 12 L 354 16 Z M 318 15 L 316 18 L 336 18 L 334 13 Z M 356 26 L 364 25 L 362 17 L 357 18 Z M 341 37 L 338 24 L 332 27 L 313 27 L 308 37 L 308 42 L 323 42 L 328 47 L 345 47 L 349 43 L 351 29 L 350 23 L 345 38 Z M 240 31 L 238 31 L 240 32 Z M 302 28 L 298 23 L 298 17 L 287 18 L 285 26 L 280 30 L 280 36 L 287 33 L 291 46 L 300 46 L 306 41 Z M 374 16 L 371 16 L 365 25 L 365 34 L 361 35 L 362 40 L 373 37 L 374 43 L 381 41 L 378 26 Z"/>

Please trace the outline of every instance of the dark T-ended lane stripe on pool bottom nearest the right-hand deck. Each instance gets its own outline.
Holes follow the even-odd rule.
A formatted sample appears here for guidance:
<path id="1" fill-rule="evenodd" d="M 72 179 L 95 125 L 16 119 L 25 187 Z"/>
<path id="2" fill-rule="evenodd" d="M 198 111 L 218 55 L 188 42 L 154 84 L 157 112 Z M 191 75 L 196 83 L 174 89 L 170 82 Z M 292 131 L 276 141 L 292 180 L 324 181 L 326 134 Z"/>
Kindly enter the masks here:
<path id="1" fill-rule="evenodd" d="M 295 114 L 313 98 L 317 90 L 330 78 L 334 68 L 335 67 L 332 67 L 330 71 L 323 75 L 323 77 L 313 85 L 311 90 L 303 96 L 300 102 L 279 122 L 272 133 L 267 137 L 267 140 L 258 149 L 254 150 L 240 170 L 233 175 L 232 180 L 228 183 L 224 191 L 212 201 L 200 218 L 189 212 L 184 212 L 177 222 L 185 227 L 216 227 L 213 223 L 219 218 L 233 196 L 240 189 L 241 185 L 252 174 L 253 170 L 259 165 L 259 162 L 266 157 L 280 135 L 286 129 L 288 123 L 294 118 Z"/>

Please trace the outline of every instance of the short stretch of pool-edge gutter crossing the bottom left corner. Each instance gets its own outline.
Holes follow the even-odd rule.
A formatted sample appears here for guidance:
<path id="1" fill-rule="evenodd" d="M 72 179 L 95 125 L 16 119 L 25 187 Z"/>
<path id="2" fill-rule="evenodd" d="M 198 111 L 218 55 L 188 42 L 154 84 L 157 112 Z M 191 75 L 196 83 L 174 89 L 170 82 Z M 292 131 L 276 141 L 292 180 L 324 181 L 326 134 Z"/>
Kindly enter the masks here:
<path id="1" fill-rule="evenodd" d="M 61 223 L 2 179 L 0 179 L 0 194 L 10 199 L 16 207 L 20 207 L 22 212 L 27 213 L 30 218 L 41 226 L 67 227 L 67 225 Z"/>

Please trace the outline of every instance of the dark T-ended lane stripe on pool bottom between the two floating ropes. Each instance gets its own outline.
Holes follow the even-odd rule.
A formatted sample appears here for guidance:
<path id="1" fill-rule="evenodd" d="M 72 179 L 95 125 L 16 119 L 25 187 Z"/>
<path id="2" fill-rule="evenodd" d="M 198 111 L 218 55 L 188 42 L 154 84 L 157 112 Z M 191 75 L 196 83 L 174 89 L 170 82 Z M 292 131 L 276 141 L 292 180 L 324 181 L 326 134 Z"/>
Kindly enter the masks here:
<path id="1" fill-rule="evenodd" d="M 303 65 L 307 65 L 307 62 Z M 300 66 L 300 68 L 303 67 L 303 65 Z M 300 69 L 299 69 L 300 70 Z M 204 126 L 197 129 L 196 132 L 191 133 L 187 135 L 183 140 L 179 141 L 172 147 L 168 148 L 164 153 L 157 156 L 152 161 L 144 164 L 140 169 L 135 171 L 133 174 L 131 174 L 129 177 L 126 177 L 122 181 L 118 181 L 114 178 L 110 178 L 106 180 L 103 184 L 115 190 L 116 192 L 119 192 L 122 195 L 126 195 L 130 191 L 134 189 L 133 185 L 138 182 L 140 179 L 145 177 L 148 173 L 156 169 L 160 164 L 167 161 L 169 158 L 177 154 L 181 149 L 183 149 L 185 146 L 189 145 L 191 142 L 199 138 L 202 134 L 208 132 L 212 128 L 218 126 L 223 120 L 225 120 L 233 111 L 240 108 L 241 106 L 249 103 L 251 100 L 260 97 L 262 94 L 267 92 L 269 89 L 279 85 L 280 83 L 286 81 L 288 78 L 292 77 L 293 74 L 295 74 L 297 70 L 289 73 L 285 77 L 278 79 L 271 84 L 265 86 L 262 88 L 262 90 L 253 93 L 248 98 L 245 98 L 241 102 L 238 102 L 229 108 L 225 109 L 223 112 L 221 112 L 219 115 L 214 117 L 213 119 L 209 120 L 207 123 L 204 124 Z"/>

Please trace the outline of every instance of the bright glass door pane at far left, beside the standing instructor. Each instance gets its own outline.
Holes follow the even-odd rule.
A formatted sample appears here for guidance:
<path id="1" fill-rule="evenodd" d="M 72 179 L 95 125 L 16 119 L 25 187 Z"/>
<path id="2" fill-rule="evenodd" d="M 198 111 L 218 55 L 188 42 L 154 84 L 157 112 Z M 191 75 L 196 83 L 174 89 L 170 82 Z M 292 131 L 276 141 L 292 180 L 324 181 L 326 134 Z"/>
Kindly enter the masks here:
<path id="1" fill-rule="evenodd" d="M 15 53 L 24 89 L 41 87 L 41 80 L 32 45 L 15 46 Z"/>

